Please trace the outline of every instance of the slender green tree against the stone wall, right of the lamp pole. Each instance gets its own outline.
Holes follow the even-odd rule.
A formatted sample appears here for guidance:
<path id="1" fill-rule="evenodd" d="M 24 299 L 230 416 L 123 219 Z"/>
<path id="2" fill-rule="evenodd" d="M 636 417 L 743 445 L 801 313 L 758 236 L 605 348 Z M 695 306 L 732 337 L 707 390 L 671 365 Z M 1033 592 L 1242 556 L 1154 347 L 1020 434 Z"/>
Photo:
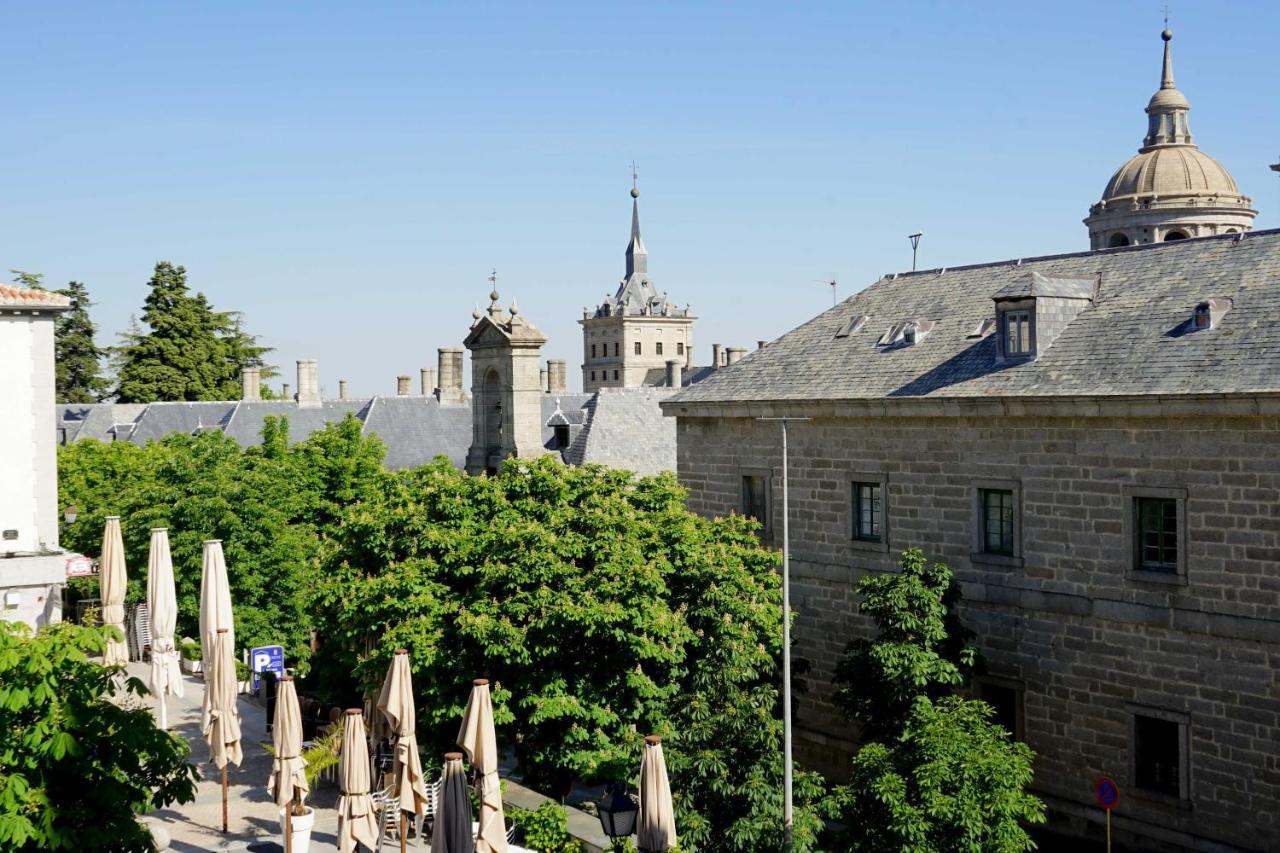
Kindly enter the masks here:
<path id="1" fill-rule="evenodd" d="M 863 747 L 828 808 L 847 827 L 841 849 L 888 853 L 1015 853 L 1033 849 L 1027 824 L 1044 806 L 1027 793 L 1034 758 L 959 692 L 979 665 L 955 615 L 951 570 L 918 548 L 897 574 L 858 584 L 876 639 L 849 644 L 836 702 L 860 726 Z"/>

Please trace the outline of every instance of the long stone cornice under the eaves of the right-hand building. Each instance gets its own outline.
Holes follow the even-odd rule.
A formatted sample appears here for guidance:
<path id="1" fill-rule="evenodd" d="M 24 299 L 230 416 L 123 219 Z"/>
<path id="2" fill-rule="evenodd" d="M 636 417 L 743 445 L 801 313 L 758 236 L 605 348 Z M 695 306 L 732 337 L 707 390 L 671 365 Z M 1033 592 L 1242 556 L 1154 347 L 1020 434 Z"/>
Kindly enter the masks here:
<path id="1" fill-rule="evenodd" d="M 1280 392 L 876 400 L 667 400 L 668 418 L 1247 418 L 1280 415 Z"/>

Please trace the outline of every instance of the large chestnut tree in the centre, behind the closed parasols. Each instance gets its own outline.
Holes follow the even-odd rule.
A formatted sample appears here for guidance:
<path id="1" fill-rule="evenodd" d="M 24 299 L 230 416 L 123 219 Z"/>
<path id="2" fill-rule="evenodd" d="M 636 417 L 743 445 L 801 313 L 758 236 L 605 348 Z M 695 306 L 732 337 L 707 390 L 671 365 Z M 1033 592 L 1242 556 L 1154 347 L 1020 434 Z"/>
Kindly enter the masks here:
<path id="1" fill-rule="evenodd" d="M 499 734 L 552 794 L 632 777 L 643 735 L 660 734 L 684 848 L 774 848 L 781 587 L 751 528 L 690 514 L 669 475 L 543 459 L 477 478 L 440 461 L 338 526 L 316 666 L 353 674 L 358 695 L 408 648 L 422 742 L 442 748 L 471 679 L 489 678 Z M 820 785 L 800 774 L 797 789 L 809 850 Z"/>

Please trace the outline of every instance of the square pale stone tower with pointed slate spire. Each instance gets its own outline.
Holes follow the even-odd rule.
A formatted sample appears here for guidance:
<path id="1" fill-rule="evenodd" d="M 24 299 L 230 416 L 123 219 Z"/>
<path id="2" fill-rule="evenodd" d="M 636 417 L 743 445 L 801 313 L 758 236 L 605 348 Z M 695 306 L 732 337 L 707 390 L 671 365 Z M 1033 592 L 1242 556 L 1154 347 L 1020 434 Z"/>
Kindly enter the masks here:
<path id="1" fill-rule="evenodd" d="M 594 313 L 582 311 L 582 391 L 636 388 L 667 383 L 667 362 L 686 368 L 694 359 L 694 320 L 649 277 L 649 254 L 640 238 L 640 191 L 631 186 L 631 242 L 627 274 Z"/>

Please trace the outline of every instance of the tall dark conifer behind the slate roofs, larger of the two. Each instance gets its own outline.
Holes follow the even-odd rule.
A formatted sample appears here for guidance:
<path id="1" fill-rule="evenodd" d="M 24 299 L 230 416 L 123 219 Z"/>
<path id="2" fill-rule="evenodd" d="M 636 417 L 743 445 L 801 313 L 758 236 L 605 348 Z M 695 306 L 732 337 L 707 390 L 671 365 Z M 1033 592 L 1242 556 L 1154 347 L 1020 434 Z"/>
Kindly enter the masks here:
<path id="1" fill-rule="evenodd" d="M 186 268 L 160 261 L 147 286 L 147 330 L 125 333 L 118 347 L 120 402 L 238 398 L 241 370 L 262 366 L 269 350 L 243 330 L 238 315 L 191 293 Z"/>

